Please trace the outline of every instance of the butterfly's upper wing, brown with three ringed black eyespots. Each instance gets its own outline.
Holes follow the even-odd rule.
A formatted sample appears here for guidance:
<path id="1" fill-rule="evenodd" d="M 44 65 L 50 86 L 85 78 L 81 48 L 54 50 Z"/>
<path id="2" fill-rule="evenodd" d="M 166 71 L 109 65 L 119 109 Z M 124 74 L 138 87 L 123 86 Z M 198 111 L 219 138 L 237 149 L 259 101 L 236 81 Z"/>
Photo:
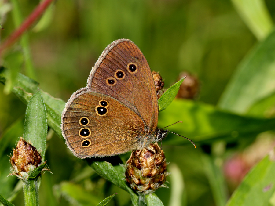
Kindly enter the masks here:
<path id="1" fill-rule="evenodd" d="M 119 100 L 138 114 L 150 131 L 156 129 L 158 102 L 151 70 L 130 40 L 117 40 L 102 52 L 87 88 Z"/>

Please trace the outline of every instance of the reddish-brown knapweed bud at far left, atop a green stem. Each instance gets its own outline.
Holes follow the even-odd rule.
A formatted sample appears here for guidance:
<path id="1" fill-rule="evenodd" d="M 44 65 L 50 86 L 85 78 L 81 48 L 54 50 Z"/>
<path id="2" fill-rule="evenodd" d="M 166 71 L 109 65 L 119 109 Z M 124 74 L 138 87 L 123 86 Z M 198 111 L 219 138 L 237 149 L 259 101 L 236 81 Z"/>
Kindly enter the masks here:
<path id="1" fill-rule="evenodd" d="M 28 178 L 28 173 L 37 168 L 42 162 L 42 157 L 34 146 L 20 137 L 16 148 L 13 148 L 13 156 L 10 163 L 13 166 L 13 173 L 20 179 Z"/>

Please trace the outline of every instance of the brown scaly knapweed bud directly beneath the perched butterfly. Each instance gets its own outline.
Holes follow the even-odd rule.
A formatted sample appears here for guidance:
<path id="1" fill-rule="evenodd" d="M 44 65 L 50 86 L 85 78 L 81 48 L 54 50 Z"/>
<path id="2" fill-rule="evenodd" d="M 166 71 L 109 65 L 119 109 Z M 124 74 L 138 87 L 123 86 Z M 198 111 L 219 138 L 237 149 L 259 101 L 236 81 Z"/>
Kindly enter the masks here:
<path id="1" fill-rule="evenodd" d="M 154 192 L 163 186 L 167 176 L 167 164 L 163 150 L 160 150 L 157 143 L 151 144 L 149 148 L 144 148 L 141 152 L 133 151 L 126 163 L 126 180 L 138 193 Z M 156 151 L 156 155 L 153 151 Z"/>

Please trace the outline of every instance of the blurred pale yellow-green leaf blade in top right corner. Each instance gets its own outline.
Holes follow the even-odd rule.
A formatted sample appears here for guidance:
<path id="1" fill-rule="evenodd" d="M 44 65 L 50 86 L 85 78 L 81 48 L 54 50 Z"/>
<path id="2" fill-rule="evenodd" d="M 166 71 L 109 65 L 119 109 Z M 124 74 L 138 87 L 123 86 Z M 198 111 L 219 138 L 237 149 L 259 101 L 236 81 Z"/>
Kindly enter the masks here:
<path id="1" fill-rule="evenodd" d="M 231 0 L 238 13 L 259 39 L 265 38 L 273 27 L 272 18 L 264 0 Z"/>

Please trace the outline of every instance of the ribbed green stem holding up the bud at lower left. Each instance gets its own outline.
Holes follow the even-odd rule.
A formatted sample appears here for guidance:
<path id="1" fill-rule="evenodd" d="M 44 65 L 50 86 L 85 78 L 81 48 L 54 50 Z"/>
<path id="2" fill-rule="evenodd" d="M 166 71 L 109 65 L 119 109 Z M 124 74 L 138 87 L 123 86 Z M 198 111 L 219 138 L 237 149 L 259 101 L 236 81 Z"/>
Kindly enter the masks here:
<path id="1" fill-rule="evenodd" d="M 38 182 L 37 180 L 26 180 L 23 181 L 23 191 L 25 205 L 27 206 L 38 206 L 39 195 L 38 195 Z"/>

